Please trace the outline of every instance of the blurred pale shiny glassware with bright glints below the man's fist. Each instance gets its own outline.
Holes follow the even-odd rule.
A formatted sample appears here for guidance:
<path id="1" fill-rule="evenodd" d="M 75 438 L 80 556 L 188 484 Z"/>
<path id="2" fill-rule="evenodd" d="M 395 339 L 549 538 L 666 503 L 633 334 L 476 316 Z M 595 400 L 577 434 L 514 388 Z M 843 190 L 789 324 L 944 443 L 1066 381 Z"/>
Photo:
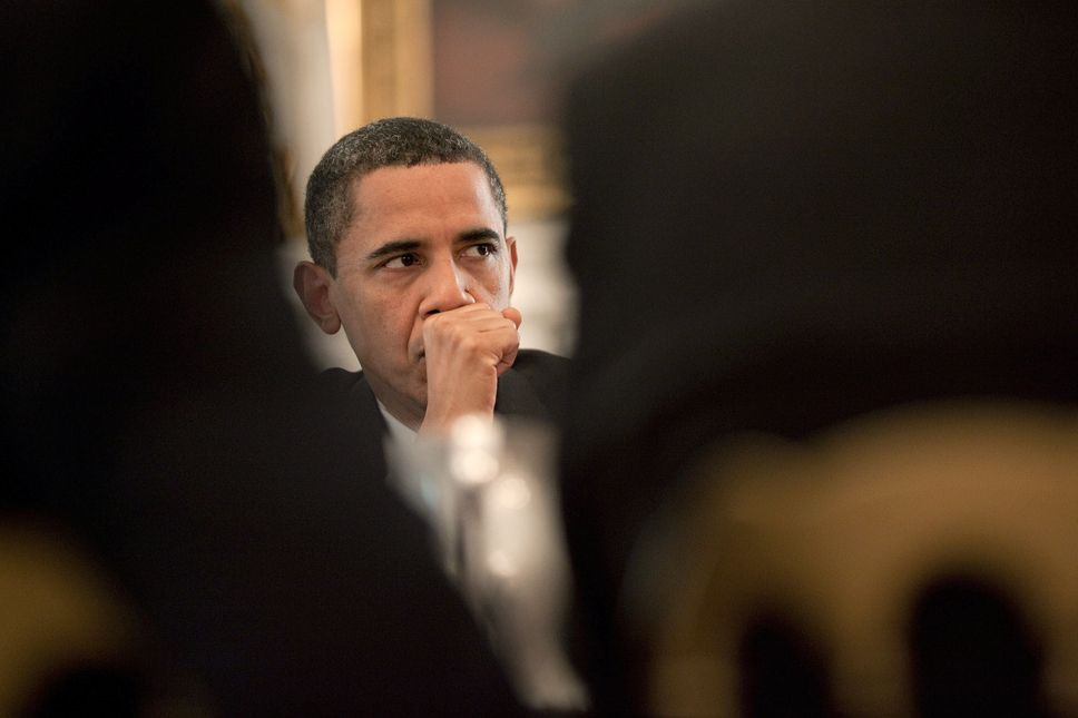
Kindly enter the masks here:
<path id="1" fill-rule="evenodd" d="M 589 699 L 560 643 L 570 589 L 555 439 L 542 424 L 465 416 L 448 435 L 390 442 L 386 452 L 520 700 L 578 710 Z"/>

